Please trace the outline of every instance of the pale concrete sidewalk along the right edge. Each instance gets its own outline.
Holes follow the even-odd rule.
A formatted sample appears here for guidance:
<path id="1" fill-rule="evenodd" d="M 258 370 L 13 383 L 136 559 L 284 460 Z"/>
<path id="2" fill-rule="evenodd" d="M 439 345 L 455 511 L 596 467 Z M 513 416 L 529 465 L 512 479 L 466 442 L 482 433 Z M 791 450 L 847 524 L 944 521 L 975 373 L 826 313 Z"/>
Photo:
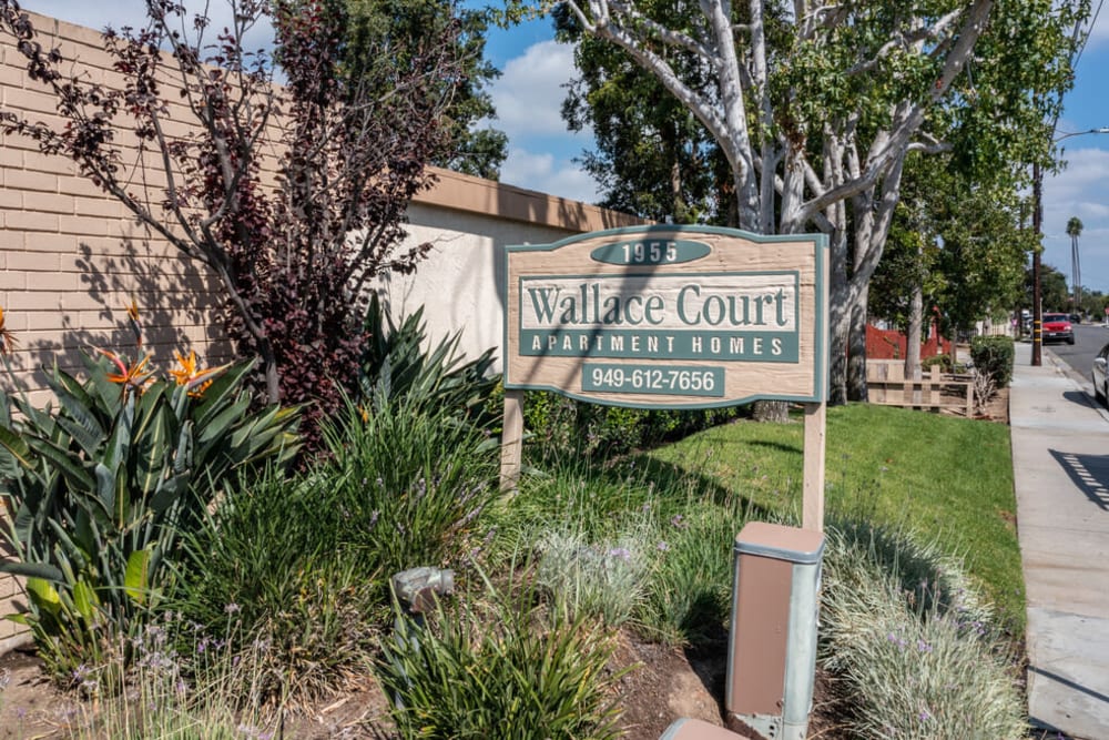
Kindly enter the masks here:
<path id="1" fill-rule="evenodd" d="M 1109 414 L 1049 349 L 1030 359 L 1017 344 L 1009 394 L 1029 718 L 1109 740 Z"/>

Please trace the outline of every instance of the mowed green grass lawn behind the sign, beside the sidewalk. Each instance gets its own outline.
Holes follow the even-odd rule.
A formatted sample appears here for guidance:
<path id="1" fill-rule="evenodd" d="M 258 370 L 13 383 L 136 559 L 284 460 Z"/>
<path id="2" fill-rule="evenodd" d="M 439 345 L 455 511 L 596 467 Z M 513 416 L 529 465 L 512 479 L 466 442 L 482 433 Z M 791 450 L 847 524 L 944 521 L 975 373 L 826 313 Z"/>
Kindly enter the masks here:
<path id="1" fill-rule="evenodd" d="M 800 521 L 804 424 L 737 422 L 648 455 L 654 475 L 693 475 L 739 497 L 749 516 Z M 901 408 L 828 409 L 828 517 L 904 527 L 966 559 L 1014 633 L 1025 596 L 1009 429 Z"/>

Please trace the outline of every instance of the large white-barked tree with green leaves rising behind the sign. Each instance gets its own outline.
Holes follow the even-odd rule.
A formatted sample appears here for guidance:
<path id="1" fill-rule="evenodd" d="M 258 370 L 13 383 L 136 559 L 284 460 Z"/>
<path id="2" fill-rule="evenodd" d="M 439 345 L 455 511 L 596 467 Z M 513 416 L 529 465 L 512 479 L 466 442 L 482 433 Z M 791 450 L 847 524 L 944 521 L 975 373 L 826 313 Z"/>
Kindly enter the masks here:
<path id="1" fill-rule="evenodd" d="M 583 33 L 622 49 L 710 133 L 729 165 L 734 225 L 830 234 L 833 402 L 847 396 L 848 338 L 865 395 L 867 288 L 906 155 L 946 151 L 944 136 L 969 138 L 993 116 L 975 156 L 1007 156 L 1022 138 L 1046 158 L 1044 121 L 1057 98 L 1020 84 L 1036 65 L 1067 83 L 1067 32 L 1087 11 L 1081 0 L 702 0 L 663 3 L 664 14 L 634 0 L 558 4 Z M 995 45 L 989 59 L 976 54 L 984 38 Z M 1010 77 L 998 72 L 1003 58 L 1019 65 Z"/>

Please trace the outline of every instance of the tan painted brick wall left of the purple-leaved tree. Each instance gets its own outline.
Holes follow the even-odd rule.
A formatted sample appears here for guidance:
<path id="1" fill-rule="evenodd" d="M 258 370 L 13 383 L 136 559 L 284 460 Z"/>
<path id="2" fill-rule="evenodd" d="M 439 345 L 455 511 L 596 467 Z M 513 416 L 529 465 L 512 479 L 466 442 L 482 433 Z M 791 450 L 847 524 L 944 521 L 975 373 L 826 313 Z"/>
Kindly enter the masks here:
<path id="1" fill-rule="evenodd" d="M 67 60 L 79 60 L 90 81 L 118 84 L 99 32 L 34 14 L 32 21 L 44 48 L 58 45 Z M 10 37 L 0 41 L 0 104 L 34 121 L 55 122 L 53 98 L 27 79 L 26 60 Z M 172 114 L 184 119 L 184 109 Z M 133 145 L 126 131 L 119 140 Z M 149 170 L 146 176 L 157 186 L 164 178 L 151 176 L 155 173 Z M 119 202 L 80 176 L 72 162 L 39 153 L 30 140 L 4 136 L 0 185 L 0 305 L 20 342 L 13 366 L 26 373 L 21 379 L 35 401 L 44 393 L 38 368 L 55 359 L 79 368 L 82 349 L 126 343 L 123 307 L 132 297 L 150 327 L 156 361 L 169 363 L 173 349 L 227 353 L 212 330 L 214 280 L 153 237 Z"/>

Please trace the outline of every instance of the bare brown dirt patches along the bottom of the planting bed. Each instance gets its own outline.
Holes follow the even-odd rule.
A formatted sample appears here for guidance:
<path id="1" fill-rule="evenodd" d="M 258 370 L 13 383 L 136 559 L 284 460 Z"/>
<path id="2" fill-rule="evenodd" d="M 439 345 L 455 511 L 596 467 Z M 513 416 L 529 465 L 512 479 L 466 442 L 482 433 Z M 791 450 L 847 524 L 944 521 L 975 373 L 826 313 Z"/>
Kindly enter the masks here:
<path id="1" fill-rule="evenodd" d="M 726 643 L 688 651 L 622 635 L 611 670 L 632 667 L 620 680 L 618 698 L 624 737 L 655 740 L 682 717 L 724 727 L 721 704 L 725 652 Z M 55 689 L 30 652 L 16 650 L 0 658 L 0 682 L 3 681 L 7 688 L 0 692 L 0 740 L 64 738 L 68 730 L 81 727 L 89 716 L 90 706 L 75 695 Z M 825 677 L 817 676 L 815 690 L 810 738 L 841 740 L 845 736 L 836 730 L 834 692 Z M 354 680 L 342 693 L 311 711 L 287 717 L 276 737 L 391 740 L 396 736 L 390 732 L 386 697 L 366 677 Z"/>

